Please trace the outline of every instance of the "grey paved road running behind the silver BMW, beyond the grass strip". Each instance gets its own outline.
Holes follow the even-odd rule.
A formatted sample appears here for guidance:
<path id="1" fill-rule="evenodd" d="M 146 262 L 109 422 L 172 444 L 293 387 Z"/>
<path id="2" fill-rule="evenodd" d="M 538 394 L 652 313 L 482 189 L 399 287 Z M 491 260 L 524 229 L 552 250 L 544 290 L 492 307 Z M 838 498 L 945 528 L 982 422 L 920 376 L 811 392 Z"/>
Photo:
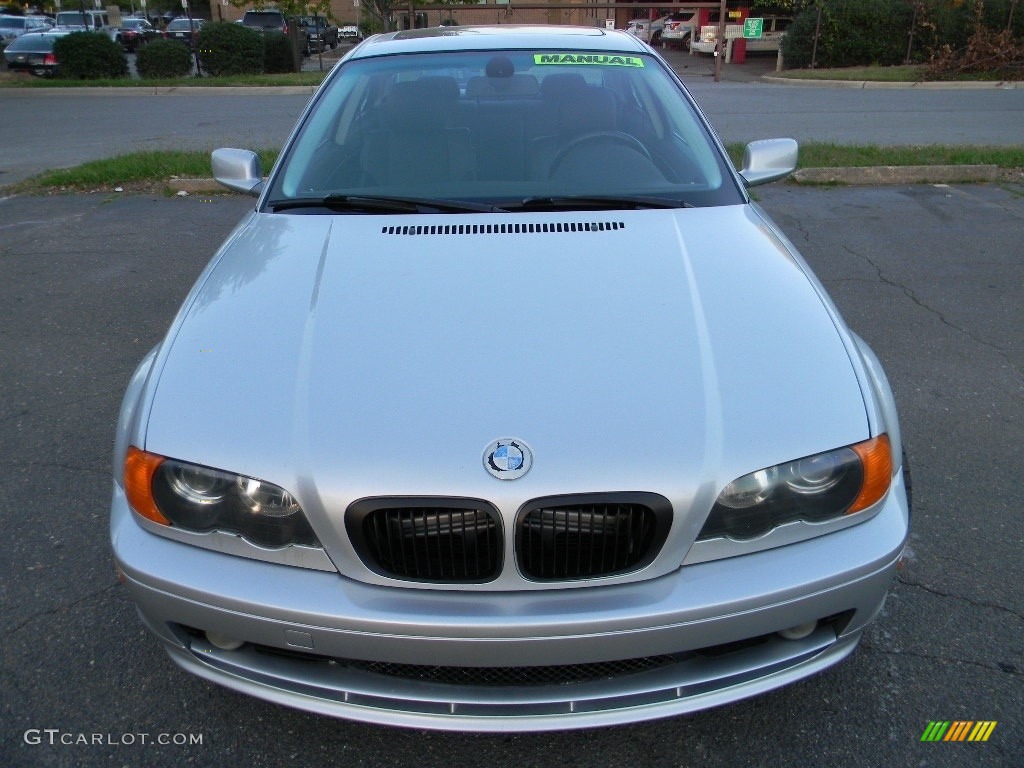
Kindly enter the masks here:
<path id="1" fill-rule="evenodd" d="M 857 90 L 760 82 L 770 60 L 731 66 L 667 56 L 726 142 L 791 136 L 842 144 L 1022 144 L 1024 89 Z M 264 91 L 155 95 L 3 91 L 0 184 L 49 168 L 138 150 L 280 147 L 309 94 Z"/>

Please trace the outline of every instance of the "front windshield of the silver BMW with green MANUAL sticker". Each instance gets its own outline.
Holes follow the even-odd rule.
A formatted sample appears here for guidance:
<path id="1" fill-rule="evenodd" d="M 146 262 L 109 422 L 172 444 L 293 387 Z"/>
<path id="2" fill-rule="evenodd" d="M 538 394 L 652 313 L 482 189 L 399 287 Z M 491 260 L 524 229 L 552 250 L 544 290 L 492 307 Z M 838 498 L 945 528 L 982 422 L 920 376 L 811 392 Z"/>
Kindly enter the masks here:
<path id="1" fill-rule="evenodd" d="M 339 196 L 503 208 L 584 197 L 740 203 L 727 162 L 653 57 L 392 55 L 339 67 L 266 200 L 271 207 Z"/>

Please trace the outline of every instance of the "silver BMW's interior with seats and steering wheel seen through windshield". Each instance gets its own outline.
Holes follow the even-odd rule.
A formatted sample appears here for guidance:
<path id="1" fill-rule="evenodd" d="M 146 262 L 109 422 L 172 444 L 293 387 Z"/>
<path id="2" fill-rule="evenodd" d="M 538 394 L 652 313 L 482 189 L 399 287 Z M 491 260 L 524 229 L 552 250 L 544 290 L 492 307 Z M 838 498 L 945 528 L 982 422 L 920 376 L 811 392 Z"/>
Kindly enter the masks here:
<path id="1" fill-rule="evenodd" d="M 289 197 L 328 194 L 479 196 L 538 182 L 553 193 L 654 194 L 722 180 L 676 117 L 624 68 L 517 72 L 493 55 L 482 74 L 381 72 L 359 78 L 330 125 L 309 125 L 289 165 Z M 335 91 L 346 90 L 338 89 Z M 711 153 L 703 152 L 710 156 Z M 303 162 L 305 160 L 305 162 Z"/>

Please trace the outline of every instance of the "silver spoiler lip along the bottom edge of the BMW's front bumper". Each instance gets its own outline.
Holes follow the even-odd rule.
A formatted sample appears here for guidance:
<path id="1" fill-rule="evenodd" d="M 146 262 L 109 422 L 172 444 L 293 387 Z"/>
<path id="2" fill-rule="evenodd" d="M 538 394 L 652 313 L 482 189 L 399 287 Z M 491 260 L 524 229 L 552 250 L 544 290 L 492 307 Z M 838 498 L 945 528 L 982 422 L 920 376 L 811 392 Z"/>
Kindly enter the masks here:
<path id="1" fill-rule="evenodd" d="M 390 679 L 382 685 L 375 684 L 373 674 L 340 669 L 310 675 L 307 665 L 298 677 L 288 662 L 268 664 L 264 657 L 253 665 L 240 651 L 218 651 L 203 641 L 167 650 L 175 664 L 199 677 L 318 715 L 428 730 L 537 732 L 654 720 L 737 701 L 838 664 L 859 639 L 857 632 L 837 640 L 830 628 L 822 627 L 803 641 L 775 641 L 758 666 L 730 669 L 730 660 L 712 659 L 687 668 L 683 663 L 669 672 L 525 692 Z"/>

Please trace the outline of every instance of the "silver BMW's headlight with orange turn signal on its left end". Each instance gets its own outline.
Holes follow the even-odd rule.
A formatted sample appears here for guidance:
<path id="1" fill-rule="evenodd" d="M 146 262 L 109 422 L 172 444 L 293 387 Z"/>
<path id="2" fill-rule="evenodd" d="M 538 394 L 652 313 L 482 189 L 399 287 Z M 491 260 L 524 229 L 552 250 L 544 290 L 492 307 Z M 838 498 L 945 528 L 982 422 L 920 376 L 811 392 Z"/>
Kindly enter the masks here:
<path id="1" fill-rule="evenodd" d="M 132 446 L 125 457 L 125 493 L 132 509 L 161 525 L 223 530 L 264 547 L 321 546 L 295 498 L 255 477 Z"/>

